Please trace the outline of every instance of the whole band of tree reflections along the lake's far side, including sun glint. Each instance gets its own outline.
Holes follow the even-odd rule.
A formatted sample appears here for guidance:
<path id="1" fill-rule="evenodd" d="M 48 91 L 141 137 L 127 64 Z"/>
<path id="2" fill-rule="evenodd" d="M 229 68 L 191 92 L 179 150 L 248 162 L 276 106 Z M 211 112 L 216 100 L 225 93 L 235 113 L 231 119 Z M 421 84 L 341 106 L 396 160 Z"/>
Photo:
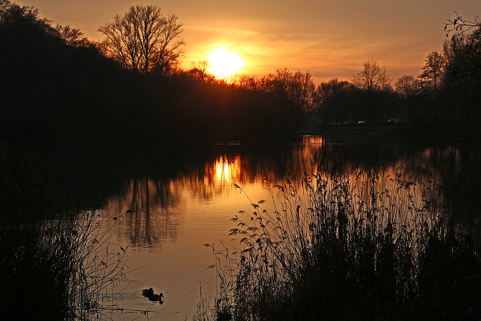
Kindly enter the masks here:
<path id="1" fill-rule="evenodd" d="M 470 169 L 481 156 L 479 146 L 473 148 L 472 142 L 466 141 L 304 136 L 288 148 L 261 145 L 230 149 L 225 154 L 215 150 L 169 178 L 133 177 L 126 182 L 122 193 L 109 198 L 108 206 L 122 216 L 123 238 L 134 245 L 150 247 L 178 237 L 184 217 L 179 214 L 184 212 L 182 206 L 202 211 L 205 201 L 225 202 L 232 193 L 238 192 L 234 183 L 262 189 L 264 173 L 272 182 L 281 182 L 286 176 L 286 164 L 302 174 L 304 170 L 310 171 L 309 160 L 314 154 L 329 154 L 336 149 L 345 153 L 350 161 L 355 159 L 361 164 L 383 161 L 392 173 L 400 166 L 405 168 L 406 177 L 410 173 L 430 173 L 440 181 Z M 216 199 L 220 196 L 222 198 Z"/>

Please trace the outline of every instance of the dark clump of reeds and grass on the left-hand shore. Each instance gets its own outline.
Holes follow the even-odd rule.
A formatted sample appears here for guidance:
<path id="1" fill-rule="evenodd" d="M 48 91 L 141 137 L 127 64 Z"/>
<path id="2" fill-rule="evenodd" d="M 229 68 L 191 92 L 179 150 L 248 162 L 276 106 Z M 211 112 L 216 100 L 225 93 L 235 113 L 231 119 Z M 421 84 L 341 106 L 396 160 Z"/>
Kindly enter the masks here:
<path id="1" fill-rule="evenodd" d="M 101 319 L 104 305 L 114 305 L 107 289 L 123 278 L 127 258 L 126 249 L 110 242 L 115 220 L 80 211 L 78 199 L 64 193 L 45 164 L 1 161 L 2 316 Z"/>

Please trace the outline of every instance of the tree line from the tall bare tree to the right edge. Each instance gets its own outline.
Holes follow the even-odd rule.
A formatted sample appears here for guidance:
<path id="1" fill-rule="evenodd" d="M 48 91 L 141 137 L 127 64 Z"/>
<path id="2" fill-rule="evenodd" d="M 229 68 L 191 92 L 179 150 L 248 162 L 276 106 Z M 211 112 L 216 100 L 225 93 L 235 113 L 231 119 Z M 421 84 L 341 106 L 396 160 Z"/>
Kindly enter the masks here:
<path id="1" fill-rule="evenodd" d="M 150 30 L 152 21 L 158 24 L 154 29 L 162 30 L 165 36 L 135 31 Z M 361 120 L 377 124 L 389 118 L 412 122 L 479 119 L 480 21 L 476 18 L 470 22 L 456 16 L 445 26 L 448 34 L 453 32 L 453 35 L 444 41 L 443 50 L 428 54 L 418 76 L 404 75 L 394 85 L 386 68 L 374 59 L 367 61 L 350 81 L 332 78 L 317 86 L 309 71 L 290 71 L 287 68 L 278 68 L 263 76 L 235 74 L 218 78 L 211 72 L 209 61 L 199 59 L 192 62 L 189 69 L 182 69 L 179 59 L 183 56 L 181 46 L 184 42 L 177 39 L 182 32 L 182 24 L 177 23 L 175 15 L 163 17 L 156 6 L 132 6 L 123 16 L 115 16 L 114 23 L 101 26 L 99 31 L 107 36 L 101 43 L 106 55 L 132 71 L 175 75 L 206 84 L 265 92 L 277 97 L 299 120 L 307 112 L 319 114 L 324 124 Z M 141 45 L 142 41 L 150 47 Z M 143 67 L 139 68 L 136 67 L 137 61 L 149 61 L 147 55 L 143 59 L 136 56 L 139 52 L 148 52 L 142 49 L 144 47 L 152 47 L 152 52 L 157 54 L 152 54 L 152 67 L 143 63 Z M 165 51 L 165 48 L 169 49 Z M 166 52 L 166 57 L 159 59 L 163 52 Z M 165 63 L 156 69 L 159 60 Z"/>

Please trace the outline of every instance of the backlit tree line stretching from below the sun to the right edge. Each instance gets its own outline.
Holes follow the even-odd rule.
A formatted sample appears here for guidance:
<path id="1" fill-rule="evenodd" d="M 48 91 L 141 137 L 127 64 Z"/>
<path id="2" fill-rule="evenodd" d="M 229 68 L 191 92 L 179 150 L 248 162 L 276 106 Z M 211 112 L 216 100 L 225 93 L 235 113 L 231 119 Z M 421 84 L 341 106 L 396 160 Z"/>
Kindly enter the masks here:
<path id="1" fill-rule="evenodd" d="M 299 116 L 316 113 L 323 124 L 390 118 L 406 122 L 481 120 L 481 23 L 456 16 L 445 24 L 443 50 L 430 52 L 418 76 L 403 75 L 392 85 L 386 68 L 367 61 L 350 81 L 332 78 L 315 86 L 308 72 L 278 68 L 264 76 L 236 74 L 218 79 L 209 62 L 199 60 L 189 70 L 177 70 L 205 83 L 260 90 L 280 98 Z M 464 30 L 463 30 L 464 27 Z M 451 33 L 451 37 L 449 34 Z"/>

